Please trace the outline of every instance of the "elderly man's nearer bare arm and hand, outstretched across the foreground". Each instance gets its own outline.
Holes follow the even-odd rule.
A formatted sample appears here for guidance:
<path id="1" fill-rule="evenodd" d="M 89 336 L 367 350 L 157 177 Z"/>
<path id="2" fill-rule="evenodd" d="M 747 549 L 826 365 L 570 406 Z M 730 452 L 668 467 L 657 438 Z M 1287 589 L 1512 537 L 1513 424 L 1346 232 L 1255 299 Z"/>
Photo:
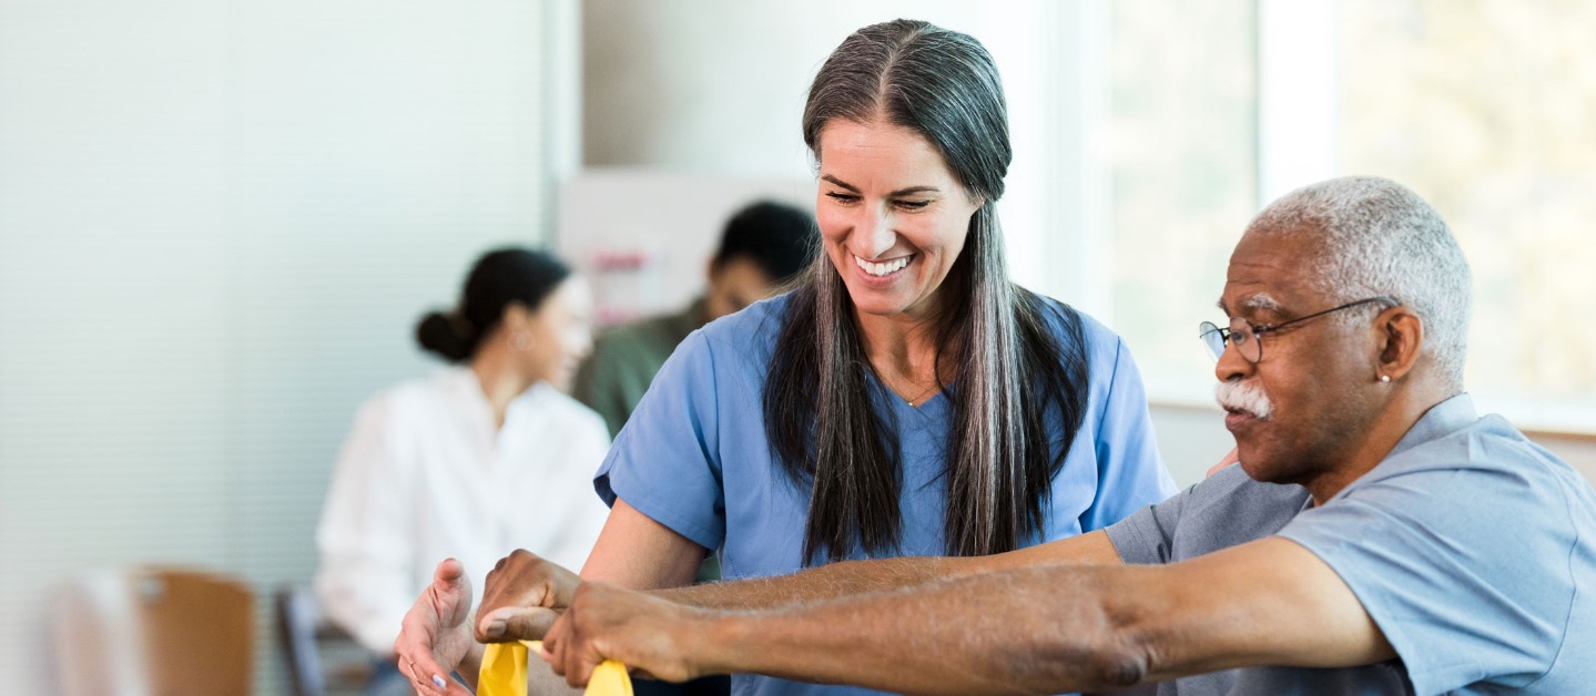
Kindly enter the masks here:
<path id="1" fill-rule="evenodd" d="M 763 611 L 584 586 L 546 647 L 575 683 L 614 658 L 674 680 L 757 672 L 950 694 L 1393 656 L 1341 578 L 1280 538 L 1165 567 L 1025 567 Z"/>

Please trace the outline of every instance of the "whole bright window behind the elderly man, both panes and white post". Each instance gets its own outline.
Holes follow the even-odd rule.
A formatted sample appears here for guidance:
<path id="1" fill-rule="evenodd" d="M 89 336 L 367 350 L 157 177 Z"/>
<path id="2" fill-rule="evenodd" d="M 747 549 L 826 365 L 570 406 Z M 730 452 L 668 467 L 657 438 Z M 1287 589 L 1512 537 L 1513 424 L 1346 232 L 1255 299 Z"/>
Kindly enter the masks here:
<path id="1" fill-rule="evenodd" d="M 1246 220 L 1293 187 L 1395 179 L 1470 259 L 1468 385 L 1531 428 L 1596 423 L 1596 5 L 1116 2 L 1112 322 L 1156 401 L 1207 401 L 1192 337 Z"/>

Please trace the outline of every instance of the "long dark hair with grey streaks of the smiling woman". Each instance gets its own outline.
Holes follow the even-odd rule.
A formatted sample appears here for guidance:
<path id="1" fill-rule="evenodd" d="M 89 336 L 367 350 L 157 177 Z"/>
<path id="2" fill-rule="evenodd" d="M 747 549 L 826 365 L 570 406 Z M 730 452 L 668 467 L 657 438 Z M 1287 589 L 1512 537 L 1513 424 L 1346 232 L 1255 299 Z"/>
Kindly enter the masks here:
<path id="1" fill-rule="evenodd" d="M 907 19 L 875 24 L 847 37 L 809 89 L 803 132 L 817 158 L 820 131 L 838 118 L 886 118 L 919 132 L 985 201 L 938 291 L 937 374 L 958 374 L 943 393 L 953 407 L 943 527 L 954 556 L 1015 549 L 1045 522 L 1088 374 L 1079 314 L 1009 279 L 996 201 L 1012 150 L 998 69 L 964 34 Z M 1049 314 L 1066 342 L 1055 340 Z M 950 359 L 956 369 L 943 370 Z M 788 299 L 764 390 L 771 447 L 811 490 L 804 564 L 855 548 L 891 551 L 902 538 L 897 428 L 871 407 L 871 370 L 847 287 L 817 254 Z M 879 380 L 875 388 L 884 390 Z M 1055 418 L 1063 436 L 1050 441 Z"/>

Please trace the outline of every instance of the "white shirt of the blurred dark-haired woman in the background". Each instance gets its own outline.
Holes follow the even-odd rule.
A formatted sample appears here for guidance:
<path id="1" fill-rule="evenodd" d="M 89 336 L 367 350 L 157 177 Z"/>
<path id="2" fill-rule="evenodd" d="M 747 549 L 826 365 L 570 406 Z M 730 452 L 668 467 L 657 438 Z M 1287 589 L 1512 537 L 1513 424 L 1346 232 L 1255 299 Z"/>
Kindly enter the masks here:
<path id="1" fill-rule="evenodd" d="M 322 610 L 378 654 L 445 557 L 474 600 L 517 548 L 581 570 L 608 509 L 592 476 L 603 420 L 539 383 L 495 429 L 476 374 L 450 367 L 367 401 L 343 445 L 316 544 Z"/>

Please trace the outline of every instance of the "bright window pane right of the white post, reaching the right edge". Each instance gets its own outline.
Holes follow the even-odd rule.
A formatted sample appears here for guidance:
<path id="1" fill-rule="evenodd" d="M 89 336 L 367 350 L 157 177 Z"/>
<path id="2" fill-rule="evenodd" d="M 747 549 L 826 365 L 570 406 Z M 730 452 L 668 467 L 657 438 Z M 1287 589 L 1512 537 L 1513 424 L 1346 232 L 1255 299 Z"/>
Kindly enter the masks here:
<path id="1" fill-rule="evenodd" d="M 1591 27 L 1596 5 L 1511 0 L 1342 0 L 1336 26 L 1341 169 L 1441 211 L 1475 276 L 1470 388 L 1553 428 L 1596 428 Z"/>

